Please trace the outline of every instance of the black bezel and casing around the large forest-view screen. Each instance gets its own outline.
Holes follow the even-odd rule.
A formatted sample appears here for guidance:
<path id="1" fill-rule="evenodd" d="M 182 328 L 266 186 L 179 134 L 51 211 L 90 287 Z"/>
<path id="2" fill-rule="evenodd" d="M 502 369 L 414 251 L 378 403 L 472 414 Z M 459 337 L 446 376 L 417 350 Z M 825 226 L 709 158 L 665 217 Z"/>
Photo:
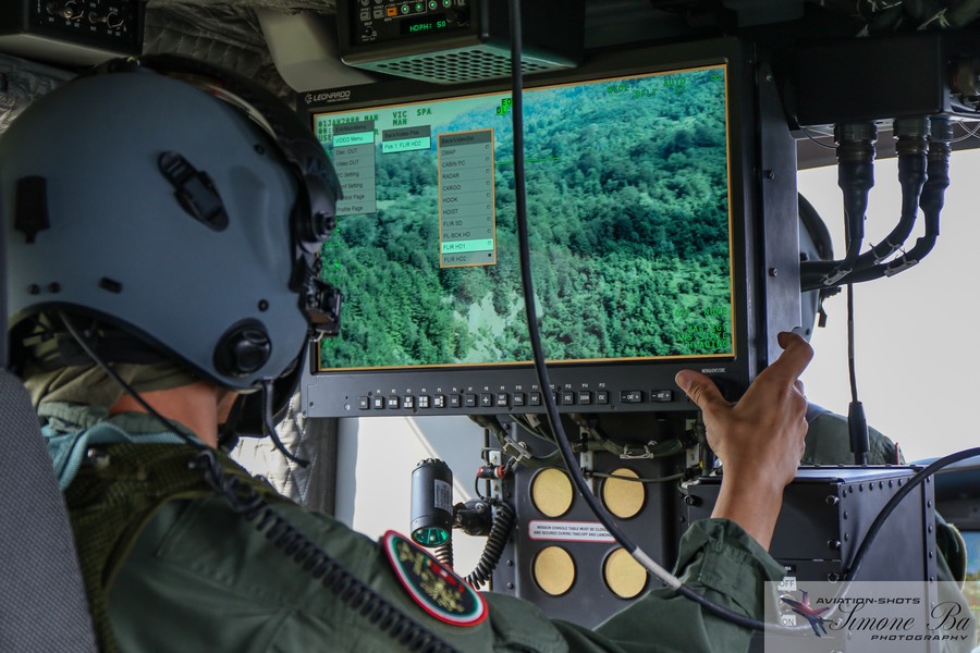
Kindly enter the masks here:
<path id="1" fill-rule="evenodd" d="M 681 369 L 696 369 L 712 375 L 730 397 L 736 398 L 773 353 L 777 353 L 775 332 L 798 325 L 796 246 L 793 245 L 789 257 L 785 251 L 768 259 L 764 256 L 774 245 L 774 239 L 767 233 L 782 234 L 775 241 L 783 245 L 791 238 L 795 242 L 797 236 L 795 176 L 792 180 L 779 178 L 788 176 L 782 174 L 774 177 L 771 170 L 765 169 L 768 161 L 763 161 L 785 162 L 792 157 L 795 169 L 795 143 L 784 121 L 764 115 L 767 102 L 760 101 L 760 97 L 773 95 L 775 89 L 759 84 L 757 62 L 751 46 L 736 39 L 718 39 L 604 52 L 587 58 L 586 63 L 575 70 L 525 78 L 525 87 L 534 88 L 718 64 L 726 66 L 734 355 L 560 362 L 551 366 L 550 374 L 551 391 L 559 399 L 561 411 L 690 410 L 693 405 L 673 381 Z M 394 79 L 305 94 L 299 100 L 313 122 L 314 114 L 329 111 L 506 91 L 509 84 L 510 81 L 502 79 L 492 84 L 448 87 Z M 771 108 L 769 113 L 772 113 Z M 795 270 L 794 260 L 797 263 Z M 776 262 L 782 266 L 781 270 L 774 266 Z M 774 272 L 782 272 L 782 279 Z M 795 287 L 794 276 L 797 280 Z M 499 415 L 544 410 L 543 404 L 530 405 L 527 401 L 531 393 L 541 392 L 529 362 L 324 371 L 317 369 L 319 352 L 315 345 L 310 354 L 302 380 L 303 406 L 310 417 Z M 599 404 L 597 398 L 603 391 L 608 402 Z M 637 392 L 641 401 L 623 401 L 626 393 Z M 514 405 L 517 393 L 526 395 L 519 406 Z M 419 406 L 421 397 L 429 397 L 427 408 Z M 443 398 L 442 406 L 432 405 L 436 397 Z M 577 401 L 586 397 L 590 403 Z M 568 398 L 572 401 L 562 401 Z"/>

